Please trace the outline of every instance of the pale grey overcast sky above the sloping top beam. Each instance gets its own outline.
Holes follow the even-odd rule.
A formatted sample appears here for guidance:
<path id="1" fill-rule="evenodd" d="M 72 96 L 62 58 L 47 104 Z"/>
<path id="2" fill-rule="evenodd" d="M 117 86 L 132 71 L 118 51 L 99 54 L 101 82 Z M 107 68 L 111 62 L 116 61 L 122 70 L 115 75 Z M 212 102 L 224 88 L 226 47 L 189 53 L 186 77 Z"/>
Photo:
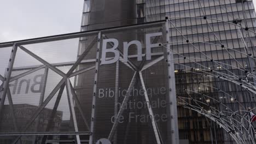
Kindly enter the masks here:
<path id="1" fill-rule="evenodd" d="M 84 0 L 1 1 L 0 43 L 80 31 Z"/>

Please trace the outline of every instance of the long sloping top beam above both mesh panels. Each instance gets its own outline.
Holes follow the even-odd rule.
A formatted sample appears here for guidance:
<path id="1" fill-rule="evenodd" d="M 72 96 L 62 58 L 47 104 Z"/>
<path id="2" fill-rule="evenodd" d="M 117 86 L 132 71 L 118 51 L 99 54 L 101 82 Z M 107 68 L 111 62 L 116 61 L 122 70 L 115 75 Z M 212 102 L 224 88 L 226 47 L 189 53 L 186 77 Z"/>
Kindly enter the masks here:
<path id="1" fill-rule="evenodd" d="M 160 24 L 162 24 L 164 22 L 165 21 L 155 21 L 155 22 L 139 23 L 139 24 L 129 25 L 129 26 L 102 28 L 102 29 L 95 29 L 95 30 L 92 30 L 92 31 L 67 33 L 67 34 L 61 34 L 61 35 L 53 35 L 53 36 L 42 37 L 42 38 L 10 41 L 10 42 L 6 42 L 6 43 L 0 43 L 0 48 L 13 46 L 14 43 L 16 43 L 16 45 L 28 45 L 28 44 L 36 44 L 36 43 L 44 43 L 44 42 L 49 42 L 49 41 L 56 41 L 56 40 L 65 40 L 65 39 L 73 39 L 73 38 L 80 38 L 80 37 L 88 37 L 90 35 L 98 34 L 99 31 L 101 31 L 102 33 L 108 33 L 108 32 L 116 32 L 116 31 L 125 31 L 125 30 L 135 29 L 135 28 L 160 26 Z"/>

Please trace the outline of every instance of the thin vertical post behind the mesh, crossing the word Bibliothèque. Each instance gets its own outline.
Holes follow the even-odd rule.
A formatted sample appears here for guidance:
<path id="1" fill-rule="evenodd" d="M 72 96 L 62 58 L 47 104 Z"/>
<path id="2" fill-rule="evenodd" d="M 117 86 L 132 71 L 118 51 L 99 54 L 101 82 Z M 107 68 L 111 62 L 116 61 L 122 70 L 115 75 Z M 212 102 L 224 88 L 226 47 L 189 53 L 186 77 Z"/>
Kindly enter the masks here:
<path id="1" fill-rule="evenodd" d="M 118 115 L 118 87 L 119 87 L 119 61 L 117 61 L 115 66 L 115 118 L 117 118 Z M 115 131 L 114 135 L 114 144 L 117 144 L 117 131 Z"/>

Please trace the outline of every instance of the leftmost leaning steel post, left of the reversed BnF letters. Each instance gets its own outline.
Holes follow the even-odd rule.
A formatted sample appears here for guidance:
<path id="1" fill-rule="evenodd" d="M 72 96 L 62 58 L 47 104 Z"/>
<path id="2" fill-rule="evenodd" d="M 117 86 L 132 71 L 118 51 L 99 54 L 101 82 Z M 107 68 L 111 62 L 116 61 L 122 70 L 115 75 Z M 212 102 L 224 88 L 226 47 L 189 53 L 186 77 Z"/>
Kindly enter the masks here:
<path id="1" fill-rule="evenodd" d="M 15 59 L 15 56 L 16 56 L 16 52 L 17 52 L 17 45 L 14 44 L 13 49 L 11 50 L 11 55 L 10 55 L 10 59 L 9 59 L 8 68 L 6 69 L 5 75 L 4 75 L 3 92 L 0 95 L 0 98 L 1 98 L 1 101 L 0 101 L 0 115 L 2 113 L 5 97 L 6 97 L 6 94 L 7 94 L 7 91 L 8 91 L 11 71 L 13 70 L 13 64 L 14 64 L 14 59 Z"/>

